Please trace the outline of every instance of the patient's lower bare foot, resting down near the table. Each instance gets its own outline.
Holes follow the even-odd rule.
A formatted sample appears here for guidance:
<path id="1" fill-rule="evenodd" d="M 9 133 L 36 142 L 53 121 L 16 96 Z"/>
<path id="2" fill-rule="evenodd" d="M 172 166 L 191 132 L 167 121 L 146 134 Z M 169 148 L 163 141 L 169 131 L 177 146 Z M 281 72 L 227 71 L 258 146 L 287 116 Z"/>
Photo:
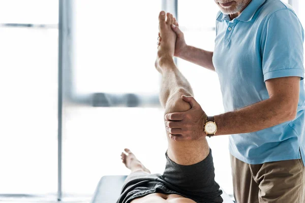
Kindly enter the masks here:
<path id="1" fill-rule="evenodd" d="M 130 149 L 124 149 L 126 153 L 121 153 L 122 162 L 125 164 L 127 168 L 129 168 L 132 172 L 135 171 L 143 171 L 150 174 L 150 171 L 136 158 L 136 156 L 130 151 Z"/>

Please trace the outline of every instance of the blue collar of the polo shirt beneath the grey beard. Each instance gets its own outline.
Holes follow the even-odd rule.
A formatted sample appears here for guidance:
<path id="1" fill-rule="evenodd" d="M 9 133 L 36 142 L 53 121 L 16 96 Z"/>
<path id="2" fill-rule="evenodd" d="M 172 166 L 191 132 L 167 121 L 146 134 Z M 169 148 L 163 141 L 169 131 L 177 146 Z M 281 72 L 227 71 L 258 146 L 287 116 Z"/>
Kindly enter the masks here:
<path id="1" fill-rule="evenodd" d="M 250 4 L 235 19 L 243 22 L 251 21 L 256 11 L 265 2 L 266 0 L 252 0 Z M 219 16 L 217 17 L 217 21 L 222 22 L 224 20 L 231 21 L 230 16 L 220 12 Z"/>

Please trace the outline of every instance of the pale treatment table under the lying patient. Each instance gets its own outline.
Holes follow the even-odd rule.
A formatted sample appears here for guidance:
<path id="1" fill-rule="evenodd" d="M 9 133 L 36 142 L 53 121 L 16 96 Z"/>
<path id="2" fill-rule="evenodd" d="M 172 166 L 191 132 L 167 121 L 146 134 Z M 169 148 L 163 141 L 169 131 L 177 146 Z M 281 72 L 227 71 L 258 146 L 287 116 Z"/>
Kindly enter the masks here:
<path id="1" fill-rule="evenodd" d="M 127 176 L 103 176 L 96 188 L 91 203 L 115 203 Z M 224 203 L 233 203 L 224 191 L 221 195 Z"/>

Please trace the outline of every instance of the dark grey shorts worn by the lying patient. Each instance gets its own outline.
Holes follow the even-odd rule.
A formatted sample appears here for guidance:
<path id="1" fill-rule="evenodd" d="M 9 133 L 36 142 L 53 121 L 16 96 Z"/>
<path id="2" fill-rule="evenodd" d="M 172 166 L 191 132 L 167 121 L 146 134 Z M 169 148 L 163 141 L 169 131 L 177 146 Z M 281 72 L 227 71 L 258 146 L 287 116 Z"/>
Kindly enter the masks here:
<path id="1" fill-rule="evenodd" d="M 193 165 L 179 165 L 165 153 L 167 162 L 163 175 L 135 172 L 129 175 L 117 203 L 129 203 L 151 193 L 179 194 L 197 203 L 223 202 L 222 191 L 215 182 L 212 152 Z"/>

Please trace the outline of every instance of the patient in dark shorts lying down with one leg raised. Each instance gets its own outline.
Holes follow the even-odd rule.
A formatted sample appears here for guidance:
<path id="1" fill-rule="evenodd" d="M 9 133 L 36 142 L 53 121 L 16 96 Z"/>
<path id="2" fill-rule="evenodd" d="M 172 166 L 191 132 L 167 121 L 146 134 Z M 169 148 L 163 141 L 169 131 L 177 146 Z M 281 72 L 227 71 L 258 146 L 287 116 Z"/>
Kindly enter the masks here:
<path id="1" fill-rule="evenodd" d="M 173 16 L 162 11 L 159 15 L 162 42 L 155 66 L 162 75 L 160 101 L 166 114 L 188 111 L 191 107 L 182 100 L 182 95 L 193 96 L 189 82 L 173 62 L 176 34 L 171 24 L 177 25 Z M 215 182 L 212 154 L 206 138 L 174 141 L 169 134 L 167 132 L 167 162 L 163 175 L 150 174 L 129 149 L 121 154 L 131 174 L 125 180 L 117 203 L 223 202 L 222 191 Z"/>

